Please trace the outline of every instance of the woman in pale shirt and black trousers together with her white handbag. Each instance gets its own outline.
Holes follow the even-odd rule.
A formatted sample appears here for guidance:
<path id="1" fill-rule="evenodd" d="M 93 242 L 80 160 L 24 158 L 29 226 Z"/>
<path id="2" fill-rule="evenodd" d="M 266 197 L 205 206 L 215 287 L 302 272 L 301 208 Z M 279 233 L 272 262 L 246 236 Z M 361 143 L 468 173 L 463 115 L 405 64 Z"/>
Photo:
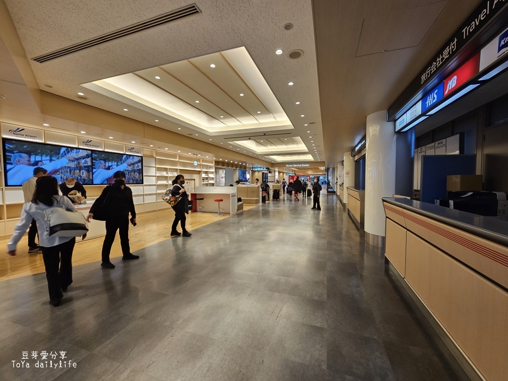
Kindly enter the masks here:
<path id="1" fill-rule="evenodd" d="M 58 182 L 52 176 L 37 179 L 34 198 L 23 205 L 21 218 L 7 245 L 9 255 L 16 255 L 16 246 L 32 219 L 37 221 L 49 303 L 58 307 L 62 291 L 67 291 L 72 283 L 72 251 L 76 237 L 85 239 L 88 229 L 83 214 L 67 197 L 58 195 Z"/>

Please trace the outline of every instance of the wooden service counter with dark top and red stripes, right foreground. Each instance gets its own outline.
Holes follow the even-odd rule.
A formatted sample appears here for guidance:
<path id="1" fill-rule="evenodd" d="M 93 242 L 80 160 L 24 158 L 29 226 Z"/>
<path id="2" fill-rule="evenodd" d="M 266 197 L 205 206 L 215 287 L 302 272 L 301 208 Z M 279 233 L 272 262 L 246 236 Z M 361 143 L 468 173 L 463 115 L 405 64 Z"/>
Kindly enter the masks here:
<path id="1" fill-rule="evenodd" d="M 452 353 L 475 379 L 508 379 L 508 222 L 415 200 L 383 204 L 385 256 Z"/>

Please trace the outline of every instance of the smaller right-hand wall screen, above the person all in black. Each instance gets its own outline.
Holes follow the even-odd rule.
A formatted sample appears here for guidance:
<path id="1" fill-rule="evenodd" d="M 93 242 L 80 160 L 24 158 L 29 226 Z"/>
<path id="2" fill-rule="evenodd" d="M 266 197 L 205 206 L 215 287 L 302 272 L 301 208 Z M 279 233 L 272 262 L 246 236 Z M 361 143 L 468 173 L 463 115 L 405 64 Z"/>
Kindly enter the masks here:
<path id="1" fill-rule="evenodd" d="M 143 157 L 123 153 L 93 151 L 93 184 L 112 184 L 116 171 L 125 172 L 126 184 L 143 183 Z"/>

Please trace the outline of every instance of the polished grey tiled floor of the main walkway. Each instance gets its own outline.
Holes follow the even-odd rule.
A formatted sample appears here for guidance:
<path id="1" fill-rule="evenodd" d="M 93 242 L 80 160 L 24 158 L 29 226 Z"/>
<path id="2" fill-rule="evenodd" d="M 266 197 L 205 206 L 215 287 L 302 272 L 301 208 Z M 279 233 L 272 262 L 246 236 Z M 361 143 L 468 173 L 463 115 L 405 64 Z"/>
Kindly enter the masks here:
<path id="1" fill-rule="evenodd" d="M 464 380 L 379 249 L 335 196 L 322 207 L 282 199 L 114 270 L 76 266 L 58 308 L 44 274 L 0 282 L 0 379 Z"/>

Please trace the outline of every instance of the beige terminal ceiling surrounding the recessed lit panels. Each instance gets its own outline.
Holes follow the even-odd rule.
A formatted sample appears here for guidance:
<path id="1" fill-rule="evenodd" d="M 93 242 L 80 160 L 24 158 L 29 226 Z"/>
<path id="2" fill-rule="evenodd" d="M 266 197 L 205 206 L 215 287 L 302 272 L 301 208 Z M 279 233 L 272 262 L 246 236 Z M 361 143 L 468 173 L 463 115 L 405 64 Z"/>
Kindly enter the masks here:
<path id="1" fill-rule="evenodd" d="M 193 3 L 2 1 L 40 89 L 221 148 L 245 150 L 260 160 L 275 163 L 270 156 L 283 161 L 288 154 L 311 155 L 331 167 L 364 135 L 365 117 L 387 109 L 480 4 L 479 0 L 196 2 L 198 12 L 192 16 L 37 62 L 33 58 Z M 284 28 L 289 23 L 292 25 Z M 83 86 L 242 47 L 289 123 L 265 125 L 260 133 L 196 132 L 188 123 L 179 125 L 170 117 L 126 106 L 126 99 L 107 97 Z M 278 49 L 281 54 L 276 54 Z M 299 57 L 290 58 L 290 53 L 298 55 L 297 50 Z M 239 75 L 257 94 L 259 90 L 249 85 L 248 73 Z M 177 80 L 191 90 L 196 87 Z M 76 98 L 79 92 L 88 99 Z M 225 93 L 246 108 L 242 103 L 246 98 L 240 93 L 234 89 Z M 261 108 L 247 111 L 255 118 L 258 111 L 265 112 Z M 288 152 L 280 145 L 261 147 L 263 138 L 277 143 L 291 138 L 303 144 Z"/>

